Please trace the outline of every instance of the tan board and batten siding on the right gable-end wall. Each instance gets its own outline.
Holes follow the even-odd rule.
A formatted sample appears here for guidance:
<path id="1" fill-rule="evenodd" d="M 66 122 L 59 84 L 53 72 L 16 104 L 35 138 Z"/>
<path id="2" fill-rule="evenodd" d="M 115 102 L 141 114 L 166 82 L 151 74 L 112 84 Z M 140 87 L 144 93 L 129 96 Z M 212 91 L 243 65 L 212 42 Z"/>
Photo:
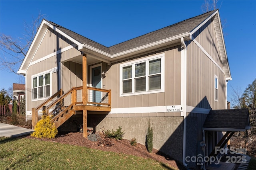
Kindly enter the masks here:
<path id="1" fill-rule="evenodd" d="M 187 105 L 205 109 L 225 109 L 226 79 L 220 59 L 213 22 L 208 21 L 194 37 L 215 63 L 198 47 L 188 41 Z M 217 65 L 220 67 L 218 67 Z M 218 101 L 214 100 L 214 76 L 218 77 Z"/>

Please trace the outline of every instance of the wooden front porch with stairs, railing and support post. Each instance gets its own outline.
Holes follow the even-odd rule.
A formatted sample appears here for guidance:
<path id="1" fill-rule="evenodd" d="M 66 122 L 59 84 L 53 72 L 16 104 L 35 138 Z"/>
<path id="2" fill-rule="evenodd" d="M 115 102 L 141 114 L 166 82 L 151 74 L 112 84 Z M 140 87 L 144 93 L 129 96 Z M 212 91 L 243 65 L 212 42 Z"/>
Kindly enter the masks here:
<path id="1" fill-rule="evenodd" d="M 83 92 L 86 90 L 86 95 Z M 86 100 L 86 103 L 83 103 Z M 110 111 L 111 110 L 111 90 L 94 87 L 83 88 L 73 87 L 62 94 L 62 89 L 48 98 L 36 108 L 32 108 L 32 129 L 39 121 L 38 115 L 48 115 L 52 117 L 52 122 L 56 128 L 60 127 L 76 111 L 83 111 L 83 127 L 87 129 L 87 111 Z M 87 131 L 84 131 L 87 137 Z"/>

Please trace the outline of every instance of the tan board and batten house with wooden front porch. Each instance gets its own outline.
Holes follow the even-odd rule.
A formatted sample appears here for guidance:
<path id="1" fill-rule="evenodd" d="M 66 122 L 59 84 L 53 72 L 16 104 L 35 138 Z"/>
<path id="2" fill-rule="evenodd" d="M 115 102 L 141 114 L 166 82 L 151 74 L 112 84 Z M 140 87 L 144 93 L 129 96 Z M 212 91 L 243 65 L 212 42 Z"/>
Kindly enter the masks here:
<path id="1" fill-rule="evenodd" d="M 197 162 L 187 156 L 212 151 L 202 127 L 210 110 L 227 108 L 232 80 L 218 10 L 111 47 L 43 20 L 18 73 L 32 128 L 47 114 L 58 130 L 74 120 L 94 132 L 121 126 L 145 144 L 150 121 L 154 148 L 188 167 Z"/>

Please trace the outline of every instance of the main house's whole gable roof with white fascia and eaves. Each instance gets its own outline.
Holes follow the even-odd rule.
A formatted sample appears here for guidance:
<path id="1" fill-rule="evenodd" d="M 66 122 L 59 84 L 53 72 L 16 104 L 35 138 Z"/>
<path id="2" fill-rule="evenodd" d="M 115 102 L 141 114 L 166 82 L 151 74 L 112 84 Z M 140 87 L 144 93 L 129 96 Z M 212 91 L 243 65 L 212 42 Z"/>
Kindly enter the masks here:
<path id="1" fill-rule="evenodd" d="M 92 41 L 73 31 L 70 31 L 69 29 L 66 29 L 52 21 L 42 20 L 38 32 L 36 33 L 36 36 L 34 37 L 32 44 L 30 45 L 28 53 L 24 61 L 22 62 L 18 73 L 26 74 L 26 70 L 28 69 L 32 58 L 36 53 L 38 46 L 40 45 L 40 42 L 42 41 L 42 38 L 44 37 L 44 34 L 49 27 L 75 43 L 78 46 L 78 50 L 80 50 L 81 52 L 92 54 L 93 56 L 98 57 L 103 61 L 113 61 L 117 58 L 124 58 L 167 45 L 180 43 L 181 38 L 184 38 L 184 41 L 191 40 L 192 34 L 211 18 L 214 18 L 214 26 L 216 27 L 215 30 L 218 39 L 218 45 L 220 47 L 222 63 L 224 64 L 225 76 L 227 80 L 231 80 L 231 74 L 226 55 L 226 48 L 218 10 L 213 10 L 205 14 L 175 23 L 173 25 L 158 29 L 156 31 L 152 31 L 134 39 L 130 39 L 128 41 L 113 45 L 111 47 L 101 45 L 100 43 Z"/>

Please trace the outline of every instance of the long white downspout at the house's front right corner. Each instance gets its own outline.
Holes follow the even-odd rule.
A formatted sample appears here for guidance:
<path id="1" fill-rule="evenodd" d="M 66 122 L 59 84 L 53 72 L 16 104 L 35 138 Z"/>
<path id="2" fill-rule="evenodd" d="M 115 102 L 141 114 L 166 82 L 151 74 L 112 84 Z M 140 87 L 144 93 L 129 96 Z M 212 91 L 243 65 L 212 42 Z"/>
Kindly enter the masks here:
<path id="1" fill-rule="evenodd" d="M 184 48 L 183 55 L 181 57 L 181 72 L 183 73 L 182 79 L 181 79 L 181 86 L 183 89 L 181 89 L 181 105 L 183 106 L 183 151 L 182 151 L 182 163 L 184 166 L 188 166 L 186 164 L 186 128 L 187 128 L 187 46 L 184 42 L 184 38 L 181 37 L 180 39 L 181 44 Z M 183 92 L 183 93 L 182 93 Z"/>

